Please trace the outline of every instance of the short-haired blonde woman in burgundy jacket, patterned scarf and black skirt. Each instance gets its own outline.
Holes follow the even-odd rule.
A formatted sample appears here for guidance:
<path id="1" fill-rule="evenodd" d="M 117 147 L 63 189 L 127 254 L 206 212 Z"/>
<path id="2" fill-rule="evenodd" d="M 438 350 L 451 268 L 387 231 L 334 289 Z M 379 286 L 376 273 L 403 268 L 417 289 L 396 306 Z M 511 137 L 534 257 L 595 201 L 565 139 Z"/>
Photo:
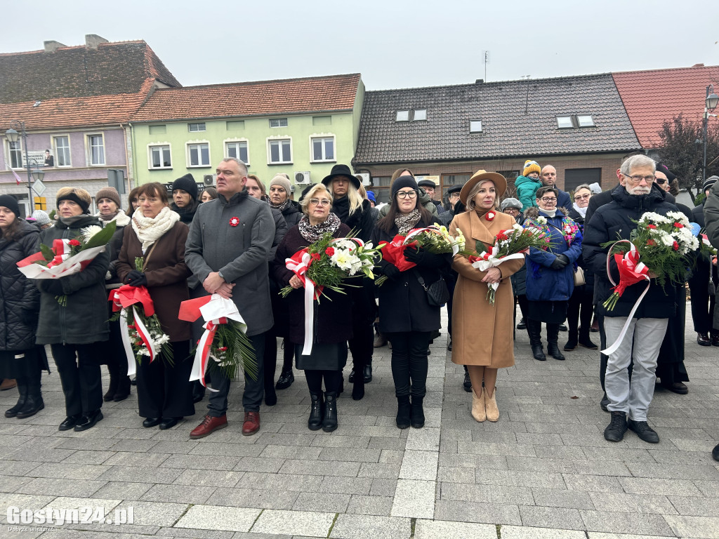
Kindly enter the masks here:
<path id="1" fill-rule="evenodd" d="M 305 341 L 305 298 L 302 281 L 285 266 L 285 259 L 331 232 L 335 238 L 347 236 L 349 228 L 330 213 L 332 195 L 318 184 L 302 202 L 305 216 L 293 226 L 277 249 L 273 267 L 275 279 L 282 287 L 295 290 L 287 296 L 290 314 L 290 341 L 295 345 L 298 369 L 305 372 L 310 390 L 311 410 L 307 421 L 310 430 L 332 432 L 337 428 L 336 399 L 342 387 L 342 368 L 347 362 L 347 341 L 352 338 L 352 290 L 347 294 L 325 289 L 326 298 L 314 300 L 313 345 L 310 355 L 303 355 Z M 324 403 L 322 382 L 324 380 Z M 324 407 L 324 411 L 323 411 Z"/>

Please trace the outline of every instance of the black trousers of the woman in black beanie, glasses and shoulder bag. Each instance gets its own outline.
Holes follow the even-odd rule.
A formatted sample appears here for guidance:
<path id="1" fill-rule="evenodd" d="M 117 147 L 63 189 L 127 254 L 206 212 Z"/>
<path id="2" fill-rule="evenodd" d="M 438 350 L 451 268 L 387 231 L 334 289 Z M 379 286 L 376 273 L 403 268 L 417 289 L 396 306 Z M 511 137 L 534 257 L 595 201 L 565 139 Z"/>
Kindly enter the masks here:
<path id="1" fill-rule="evenodd" d="M 392 378 L 395 395 L 424 397 L 427 392 L 427 350 L 431 331 L 387 333 L 392 343 Z"/>

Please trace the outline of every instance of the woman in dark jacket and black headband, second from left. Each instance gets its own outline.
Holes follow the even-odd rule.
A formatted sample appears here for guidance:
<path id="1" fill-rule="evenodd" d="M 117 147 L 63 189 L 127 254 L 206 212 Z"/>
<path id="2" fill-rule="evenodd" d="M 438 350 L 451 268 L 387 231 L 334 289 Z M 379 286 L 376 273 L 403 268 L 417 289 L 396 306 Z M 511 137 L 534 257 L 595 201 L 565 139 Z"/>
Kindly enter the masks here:
<path id="1" fill-rule="evenodd" d="M 100 226 L 98 218 L 88 215 L 91 202 L 84 189 L 58 190 L 60 217 L 55 226 L 42 231 L 40 242 L 52 246 L 54 239 L 75 239 L 81 229 Z M 109 338 L 105 290 L 109 261 L 104 251 L 79 273 L 35 280 L 41 292 L 37 344 L 50 344 L 65 394 L 67 418 L 60 430 L 87 430 L 103 418 L 99 359 Z M 65 295 L 63 305 L 58 303 L 61 295 Z"/>

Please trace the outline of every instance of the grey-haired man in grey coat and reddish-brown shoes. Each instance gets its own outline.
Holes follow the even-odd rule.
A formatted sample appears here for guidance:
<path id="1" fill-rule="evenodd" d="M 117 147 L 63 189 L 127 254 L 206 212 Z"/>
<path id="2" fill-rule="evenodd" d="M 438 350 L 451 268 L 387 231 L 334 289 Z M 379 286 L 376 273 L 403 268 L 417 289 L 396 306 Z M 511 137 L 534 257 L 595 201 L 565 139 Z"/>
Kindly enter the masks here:
<path id="1" fill-rule="evenodd" d="M 260 429 L 265 332 L 274 324 L 267 254 L 275 237 L 275 224 L 270 206 L 244 189 L 247 167 L 242 161 L 227 157 L 216 172 L 218 197 L 198 207 L 190 226 L 185 262 L 205 292 L 231 298 L 247 324 L 259 367 L 257 379 L 247 374 L 244 377 L 242 434 L 250 436 Z M 190 438 L 203 438 L 227 426 L 229 385 L 221 372 L 212 373 L 216 392 L 209 398 L 208 414 Z"/>

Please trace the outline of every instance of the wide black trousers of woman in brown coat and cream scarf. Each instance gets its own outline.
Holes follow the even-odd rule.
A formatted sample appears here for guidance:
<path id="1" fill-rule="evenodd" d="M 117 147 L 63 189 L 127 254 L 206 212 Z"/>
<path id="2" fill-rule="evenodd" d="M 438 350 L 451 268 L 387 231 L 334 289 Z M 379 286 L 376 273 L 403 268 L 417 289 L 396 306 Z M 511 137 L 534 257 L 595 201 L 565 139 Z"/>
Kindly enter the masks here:
<path id="1" fill-rule="evenodd" d="M 194 415 L 192 402 L 193 358 L 190 341 L 173 342 L 173 365 L 157 356 L 145 356 L 137 366 L 137 405 L 141 418 L 184 418 Z"/>

